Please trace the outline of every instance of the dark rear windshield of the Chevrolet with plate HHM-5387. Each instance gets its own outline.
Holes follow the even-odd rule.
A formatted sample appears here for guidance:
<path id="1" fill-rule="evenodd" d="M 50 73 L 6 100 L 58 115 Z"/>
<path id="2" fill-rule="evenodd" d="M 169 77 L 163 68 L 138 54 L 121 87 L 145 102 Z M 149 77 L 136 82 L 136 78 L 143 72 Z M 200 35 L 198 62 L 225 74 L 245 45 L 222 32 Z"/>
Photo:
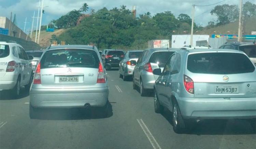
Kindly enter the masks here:
<path id="1" fill-rule="evenodd" d="M 239 74 L 255 70 L 252 62 L 240 53 L 201 53 L 188 56 L 187 69 L 203 74 Z"/>

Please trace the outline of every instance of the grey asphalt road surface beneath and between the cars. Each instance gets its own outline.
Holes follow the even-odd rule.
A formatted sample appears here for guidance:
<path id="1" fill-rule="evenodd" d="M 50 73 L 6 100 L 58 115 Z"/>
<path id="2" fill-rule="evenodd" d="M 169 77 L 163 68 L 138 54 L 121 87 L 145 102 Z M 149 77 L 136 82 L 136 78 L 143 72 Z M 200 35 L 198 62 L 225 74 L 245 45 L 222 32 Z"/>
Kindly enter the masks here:
<path id="1" fill-rule="evenodd" d="M 168 111 L 154 112 L 153 97 L 141 97 L 131 81 L 108 71 L 110 116 L 80 109 L 45 110 L 29 118 L 29 96 L 10 99 L 1 92 L 1 149 L 255 149 L 256 135 L 245 120 L 207 121 L 176 134 Z"/>

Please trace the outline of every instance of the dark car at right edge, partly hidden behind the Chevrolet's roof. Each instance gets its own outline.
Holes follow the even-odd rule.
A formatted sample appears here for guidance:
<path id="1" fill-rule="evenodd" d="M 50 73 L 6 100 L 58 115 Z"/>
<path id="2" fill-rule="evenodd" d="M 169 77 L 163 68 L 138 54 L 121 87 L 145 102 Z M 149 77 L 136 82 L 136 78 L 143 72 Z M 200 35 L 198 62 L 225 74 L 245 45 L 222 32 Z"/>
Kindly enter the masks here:
<path id="1" fill-rule="evenodd" d="M 256 66 L 256 43 L 255 42 L 227 42 L 219 49 L 234 49 L 243 51 Z"/>

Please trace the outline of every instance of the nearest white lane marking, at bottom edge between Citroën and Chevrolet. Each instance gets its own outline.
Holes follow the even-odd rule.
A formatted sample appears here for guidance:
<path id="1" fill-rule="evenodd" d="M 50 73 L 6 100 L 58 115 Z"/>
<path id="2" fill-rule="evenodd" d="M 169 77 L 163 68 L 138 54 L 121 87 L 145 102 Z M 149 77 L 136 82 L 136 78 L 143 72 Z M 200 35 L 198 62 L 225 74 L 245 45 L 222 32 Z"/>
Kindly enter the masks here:
<path id="1" fill-rule="evenodd" d="M 144 131 L 145 135 L 147 136 L 148 140 L 150 141 L 152 147 L 154 149 L 161 149 L 161 147 L 159 146 L 159 144 L 156 142 L 155 137 L 152 135 L 152 133 L 150 132 L 150 130 L 147 128 L 147 126 L 145 125 L 145 123 L 143 122 L 142 119 L 137 119 L 138 123 L 140 124 L 140 127 L 142 128 L 142 130 Z"/>

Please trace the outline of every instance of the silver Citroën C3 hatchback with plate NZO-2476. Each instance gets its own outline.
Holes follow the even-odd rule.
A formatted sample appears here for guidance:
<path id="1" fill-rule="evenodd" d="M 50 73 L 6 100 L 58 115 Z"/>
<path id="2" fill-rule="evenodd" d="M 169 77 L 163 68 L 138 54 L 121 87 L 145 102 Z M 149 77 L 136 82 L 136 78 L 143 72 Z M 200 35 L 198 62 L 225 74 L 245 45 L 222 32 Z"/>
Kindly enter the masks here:
<path id="1" fill-rule="evenodd" d="M 106 112 L 109 86 L 95 46 L 61 45 L 43 53 L 30 88 L 30 118 L 39 108 L 102 107 Z"/>

